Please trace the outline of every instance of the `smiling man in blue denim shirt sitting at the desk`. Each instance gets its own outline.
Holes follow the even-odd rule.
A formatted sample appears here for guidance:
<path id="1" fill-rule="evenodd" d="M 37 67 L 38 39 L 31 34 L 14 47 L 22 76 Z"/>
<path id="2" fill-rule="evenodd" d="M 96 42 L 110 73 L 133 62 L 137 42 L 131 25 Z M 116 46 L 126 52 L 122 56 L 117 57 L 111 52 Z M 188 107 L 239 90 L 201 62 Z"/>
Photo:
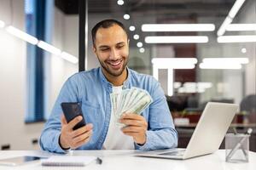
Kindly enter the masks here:
<path id="1" fill-rule="evenodd" d="M 70 77 L 55 102 L 40 138 L 43 150 L 159 150 L 177 146 L 177 132 L 160 83 L 153 77 L 127 68 L 129 38 L 117 20 L 102 20 L 91 31 L 93 50 L 101 67 Z M 111 93 L 143 88 L 153 102 L 142 115 L 124 113 L 119 120 L 111 111 Z M 86 126 L 73 130 L 82 120 L 67 123 L 62 102 L 80 102 Z M 125 124 L 117 126 L 116 122 Z"/>

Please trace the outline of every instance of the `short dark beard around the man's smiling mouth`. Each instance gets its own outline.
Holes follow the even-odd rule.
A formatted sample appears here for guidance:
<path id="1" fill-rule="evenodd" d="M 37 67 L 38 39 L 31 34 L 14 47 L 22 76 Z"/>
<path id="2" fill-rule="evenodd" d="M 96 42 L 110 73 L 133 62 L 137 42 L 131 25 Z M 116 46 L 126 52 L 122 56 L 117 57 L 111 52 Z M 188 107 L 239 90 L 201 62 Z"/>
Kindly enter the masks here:
<path id="1" fill-rule="evenodd" d="M 128 64 L 128 57 L 127 58 L 122 58 L 121 62 L 122 62 L 122 65 L 121 67 L 119 68 L 119 70 L 114 70 L 113 68 L 111 68 L 111 66 L 108 64 L 108 60 L 100 60 L 99 57 L 97 56 L 100 64 L 102 65 L 102 68 L 104 71 L 107 71 L 107 73 L 113 77 L 119 77 L 124 71 L 125 71 L 125 68 L 126 68 L 126 65 Z"/>

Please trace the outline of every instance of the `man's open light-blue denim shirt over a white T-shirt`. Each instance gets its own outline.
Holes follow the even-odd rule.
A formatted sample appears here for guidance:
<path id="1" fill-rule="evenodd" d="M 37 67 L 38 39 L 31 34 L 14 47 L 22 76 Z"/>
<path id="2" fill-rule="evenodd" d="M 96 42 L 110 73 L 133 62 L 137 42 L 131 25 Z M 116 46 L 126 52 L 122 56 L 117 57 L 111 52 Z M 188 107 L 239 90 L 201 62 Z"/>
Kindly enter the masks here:
<path id="1" fill-rule="evenodd" d="M 143 145 L 135 144 L 136 150 L 159 150 L 177 147 L 177 131 L 172 122 L 172 116 L 166 103 L 165 94 L 160 83 L 154 77 L 139 74 L 128 69 L 128 77 L 123 88 L 143 88 L 153 99 L 142 113 L 148 122 L 147 141 Z M 59 145 L 61 134 L 61 103 L 80 102 L 84 119 L 93 124 L 93 134 L 90 141 L 77 150 L 101 150 L 108 133 L 111 116 L 110 94 L 113 85 L 102 73 L 102 68 L 82 71 L 69 77 L 61 88 L 49 120 L 44 126 L 40 137 L 43 150 L 64 153 Z"/>

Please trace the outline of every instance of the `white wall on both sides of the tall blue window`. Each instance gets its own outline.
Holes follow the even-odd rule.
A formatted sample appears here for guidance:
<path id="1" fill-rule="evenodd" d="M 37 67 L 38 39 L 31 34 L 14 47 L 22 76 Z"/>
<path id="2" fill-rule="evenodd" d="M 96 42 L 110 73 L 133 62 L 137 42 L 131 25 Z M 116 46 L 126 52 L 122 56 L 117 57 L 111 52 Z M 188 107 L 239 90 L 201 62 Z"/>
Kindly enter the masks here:
<path id="1" fill-rule="evenodd" d="M 25 30 L 24 1 L 13 3 L 11 20 L 10 0 L 0 0 L 0 20 L 8 25 Z M 52 44 L 69 54 L 78 56 L 79 19 L 77 16 L 65 16 L 55 10 L 52 20 Z M 47 53 L 46 53 L 47 54 Z M 26 115 L 26 42 L 9 35 L 0 29 L 0 145 L 10 144 L 11 150 L 37 150 L 32 139 L 38 139 L 44 122 L 25 124 Z M 74 65 L 51 54 L 46 55 L 45 94 L 49 115 L 63 82 L 78 71 Z"/>

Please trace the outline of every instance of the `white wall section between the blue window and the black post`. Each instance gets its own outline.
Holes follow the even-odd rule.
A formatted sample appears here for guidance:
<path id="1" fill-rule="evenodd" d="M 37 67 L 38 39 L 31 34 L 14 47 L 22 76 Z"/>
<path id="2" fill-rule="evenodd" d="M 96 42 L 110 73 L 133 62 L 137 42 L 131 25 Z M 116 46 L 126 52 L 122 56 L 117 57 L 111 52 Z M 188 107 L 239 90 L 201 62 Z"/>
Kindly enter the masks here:
<path id="1" fill-rule="evenodd" d="M 54 8 L 54 19 L 52 20 L 52 44 L 79 57 L 79 17 L 78 15 L 68 16 L 61 12 L 60 9 Z M 53 54 L 49 54 L 48 71 L 46 71 L 46 116 L 55 103 L 63 83 L 68 77 L 79 70 L 78 64 L 73 64 L 65 59 L 61 59 Z"/>

